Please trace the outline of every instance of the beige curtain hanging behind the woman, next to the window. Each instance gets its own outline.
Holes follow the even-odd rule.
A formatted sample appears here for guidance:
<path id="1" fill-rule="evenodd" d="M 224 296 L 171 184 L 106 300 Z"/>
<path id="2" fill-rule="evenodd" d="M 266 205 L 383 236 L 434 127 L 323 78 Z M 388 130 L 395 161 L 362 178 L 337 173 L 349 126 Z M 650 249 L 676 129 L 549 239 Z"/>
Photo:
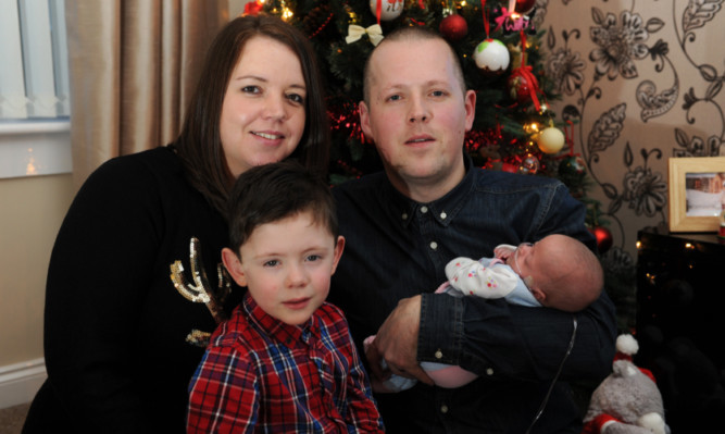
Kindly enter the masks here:
<path id="1" fill-rule="evenodd" d="M 65 2 L 76 188 L 110 158 L 179 133 L 226 0 Z"/>

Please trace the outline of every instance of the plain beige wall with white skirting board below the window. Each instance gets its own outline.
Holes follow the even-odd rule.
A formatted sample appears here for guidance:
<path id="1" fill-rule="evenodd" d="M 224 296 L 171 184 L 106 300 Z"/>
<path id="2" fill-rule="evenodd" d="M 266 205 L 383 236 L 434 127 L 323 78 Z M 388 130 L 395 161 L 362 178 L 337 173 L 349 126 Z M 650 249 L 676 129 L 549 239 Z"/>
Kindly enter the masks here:
<path id="1" fill-rule="evenodd" d="M 28 401 L 45 376 L 42 312 L 70 174 L 0 179 L 0 408 Z"/>

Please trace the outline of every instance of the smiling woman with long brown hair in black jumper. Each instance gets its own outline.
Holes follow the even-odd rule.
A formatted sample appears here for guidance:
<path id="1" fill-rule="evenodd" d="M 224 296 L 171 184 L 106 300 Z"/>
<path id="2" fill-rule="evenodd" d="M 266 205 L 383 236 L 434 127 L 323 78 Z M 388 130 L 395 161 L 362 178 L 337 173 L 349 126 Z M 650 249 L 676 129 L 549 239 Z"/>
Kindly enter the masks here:
<path id="1" fill-rule="evenodd" d="M 285 158 L 324 170 L 328 147 L 307 37 L 274 17 L 230 22 L 178 139 L 104 163 L 73 201 L 48 272 L 48 381 L 23 432 L 184 432 L 205 333 L 240 297 L 218 290 L 234 179 Z"/>

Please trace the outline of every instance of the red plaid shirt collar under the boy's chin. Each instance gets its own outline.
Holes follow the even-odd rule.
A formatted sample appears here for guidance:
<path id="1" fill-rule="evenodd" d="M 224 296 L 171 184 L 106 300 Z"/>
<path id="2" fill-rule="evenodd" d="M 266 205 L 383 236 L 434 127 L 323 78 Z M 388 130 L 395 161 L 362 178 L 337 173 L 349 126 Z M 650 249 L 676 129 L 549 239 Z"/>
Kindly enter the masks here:
<path id="1" fill-rule="evenodd" d="M 311 337 L 320 336 L 314 314 L 301 325 L 286 324 L 266 313 L 247 292 L 242 307 L 252 323 L 262 328 L 271 338 L 289 348 L 309 346 Z"/>

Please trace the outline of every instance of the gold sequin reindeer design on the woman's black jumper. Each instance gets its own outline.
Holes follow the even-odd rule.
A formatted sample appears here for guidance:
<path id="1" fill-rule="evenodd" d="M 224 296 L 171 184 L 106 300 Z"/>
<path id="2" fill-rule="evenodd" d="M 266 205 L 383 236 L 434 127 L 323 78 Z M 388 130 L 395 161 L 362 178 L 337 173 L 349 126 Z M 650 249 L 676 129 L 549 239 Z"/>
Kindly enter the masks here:
<path id="1" fill-rule="evenodd" d="M 186 275 L 184 274 L 184 265 L 180 260 L 176 260 L 171 264 L 171 280 L 174 283 L 174 287 L 187 300 L 207 305 L 214 321 L 216 321 L 217 324 L 221 323 L 226 320 L 226 314 L 224 313 L 224 300 L 226 300 L 232 292 L 229 275 L 226 269 L 224 269 L 224 265 L 221 262 L 216 264 L 218 286 L 212 288 L 201 262 L 200 243 L 196 237 L 192 237 L 189 244 L 189 264 L 191 265 L 193 284 L 187 281 Z M 207 347 L 210 337 L 211 332 L 193 328 L 186 336 L 186 340 L 196 346 Z"/>

